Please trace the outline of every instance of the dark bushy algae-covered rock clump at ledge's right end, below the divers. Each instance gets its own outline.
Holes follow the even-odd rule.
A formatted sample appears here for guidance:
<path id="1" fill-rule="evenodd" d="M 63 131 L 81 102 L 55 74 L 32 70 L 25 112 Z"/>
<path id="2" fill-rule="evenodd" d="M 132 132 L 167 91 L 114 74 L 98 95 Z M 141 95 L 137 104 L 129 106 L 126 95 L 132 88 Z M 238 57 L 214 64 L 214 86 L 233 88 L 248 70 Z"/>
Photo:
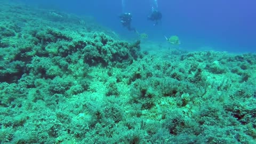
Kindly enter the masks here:
<path id="1" fill-rule="evenodd" d="M 127 42 L 115 41 L 103 33 L 93 35 L 90 42 L 82 50 L 84 60 L 89 65 L 113 66 L 117 63 L 129 62 L 141 58 L 140 42 L 129 44 Z M 87 40 L 88 41 L 88 40 Z"/>

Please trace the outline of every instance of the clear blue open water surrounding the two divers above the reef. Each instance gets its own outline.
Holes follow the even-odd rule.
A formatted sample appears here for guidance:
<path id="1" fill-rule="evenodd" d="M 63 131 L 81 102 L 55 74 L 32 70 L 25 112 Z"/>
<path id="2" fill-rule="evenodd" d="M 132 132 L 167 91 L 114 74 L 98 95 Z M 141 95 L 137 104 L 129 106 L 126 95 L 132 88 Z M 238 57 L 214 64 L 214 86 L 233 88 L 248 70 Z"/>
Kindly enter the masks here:
<path id="1" fill-rule="evenodd" d="M 118 19 L 122 12 L 130 12 L 132 26 L 140 33 L 148 34 L 150 41 L 162 43 L 165 42 L 164 35 L 178 35 L 181 47 L 185 49 L 212 47 L 218 51 L 256 52 L 256 2 L 252 0 L 23 1 L 78 15 L 91 15 L 123 38 L 136 37 L 123 28 Z M 147 20 L 152 6 L 163 14 L 158 26 Z"/>

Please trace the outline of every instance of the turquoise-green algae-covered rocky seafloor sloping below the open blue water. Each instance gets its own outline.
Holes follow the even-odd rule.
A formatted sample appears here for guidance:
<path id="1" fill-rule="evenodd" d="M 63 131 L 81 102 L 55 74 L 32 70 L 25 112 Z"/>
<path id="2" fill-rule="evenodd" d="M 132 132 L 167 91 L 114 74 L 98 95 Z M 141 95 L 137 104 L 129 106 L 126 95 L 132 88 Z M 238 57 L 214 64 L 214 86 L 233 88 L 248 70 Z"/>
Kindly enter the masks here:
<path id="1" fill-rule="evenodd" d="M 140 52 L 89 19 L 0 7 L 0 143 L 255 143 L 255 54 Z"/>

